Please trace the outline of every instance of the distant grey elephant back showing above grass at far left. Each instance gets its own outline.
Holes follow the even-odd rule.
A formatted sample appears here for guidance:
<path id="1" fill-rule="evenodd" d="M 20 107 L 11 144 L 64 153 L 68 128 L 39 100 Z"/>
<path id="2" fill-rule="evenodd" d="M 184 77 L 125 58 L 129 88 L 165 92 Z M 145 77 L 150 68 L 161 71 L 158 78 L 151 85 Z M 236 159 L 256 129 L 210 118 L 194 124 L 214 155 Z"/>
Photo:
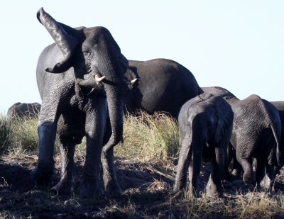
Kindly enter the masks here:
<path id="1" fill-rule="evenodd" d="M 7 111 L 6 118 L 37 118 L 40 112 L 40 103 L 14 103 Z"/>

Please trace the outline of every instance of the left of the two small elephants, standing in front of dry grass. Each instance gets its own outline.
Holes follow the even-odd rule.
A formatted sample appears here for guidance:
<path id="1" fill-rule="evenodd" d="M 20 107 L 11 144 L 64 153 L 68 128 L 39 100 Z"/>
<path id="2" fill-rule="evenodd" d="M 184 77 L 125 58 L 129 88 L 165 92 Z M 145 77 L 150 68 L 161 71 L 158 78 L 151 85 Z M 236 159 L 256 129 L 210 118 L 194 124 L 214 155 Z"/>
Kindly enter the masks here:
<path id="1" fill-rule="evenodd" d="M 178 116 L 182 147 L 173 193 L 178 193 L 186 187 L 187 169 L 190 167 L 190 192 L 196 195 L 203 155 L 211 160 L 212 165 L 206 187 L 207 196 L 222 196 L 221 180 L 233 116 L 229 103 L 221 96 L 207 93 L 190 99 L 182 106 Z"/>

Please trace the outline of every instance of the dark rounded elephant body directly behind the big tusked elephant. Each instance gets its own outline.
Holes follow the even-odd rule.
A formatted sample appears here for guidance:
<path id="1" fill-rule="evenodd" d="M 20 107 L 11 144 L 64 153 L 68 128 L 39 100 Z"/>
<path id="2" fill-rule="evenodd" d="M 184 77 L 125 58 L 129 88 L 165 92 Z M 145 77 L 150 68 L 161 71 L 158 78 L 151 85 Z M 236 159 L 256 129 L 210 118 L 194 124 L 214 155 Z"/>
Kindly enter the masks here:
<path id="1" fill-rule="evenodd" d="M 129 60 L 125 77 L 138 79 L 124 95 L 126 109 L 131 112 L 163 111 L 178 118 L 182 104 L 202 93 L 193 74 L 173 60 Z"/>

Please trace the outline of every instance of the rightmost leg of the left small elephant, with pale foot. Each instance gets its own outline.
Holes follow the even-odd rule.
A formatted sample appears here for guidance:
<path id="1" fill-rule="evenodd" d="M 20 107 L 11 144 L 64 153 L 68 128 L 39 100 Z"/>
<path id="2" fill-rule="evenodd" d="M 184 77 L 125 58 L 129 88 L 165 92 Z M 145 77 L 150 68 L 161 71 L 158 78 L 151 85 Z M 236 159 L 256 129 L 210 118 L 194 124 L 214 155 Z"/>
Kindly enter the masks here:
<path id="1" fill-rule="evenodd" d="M 226 157 L 226 143 L 219 144 L 218 147 L 213 147 L 211 159 L 211 174 L 206 186 L 206 196 L 217 198 L 223 196 L 222 179 L 224 179 L 224 164 Z"/>

